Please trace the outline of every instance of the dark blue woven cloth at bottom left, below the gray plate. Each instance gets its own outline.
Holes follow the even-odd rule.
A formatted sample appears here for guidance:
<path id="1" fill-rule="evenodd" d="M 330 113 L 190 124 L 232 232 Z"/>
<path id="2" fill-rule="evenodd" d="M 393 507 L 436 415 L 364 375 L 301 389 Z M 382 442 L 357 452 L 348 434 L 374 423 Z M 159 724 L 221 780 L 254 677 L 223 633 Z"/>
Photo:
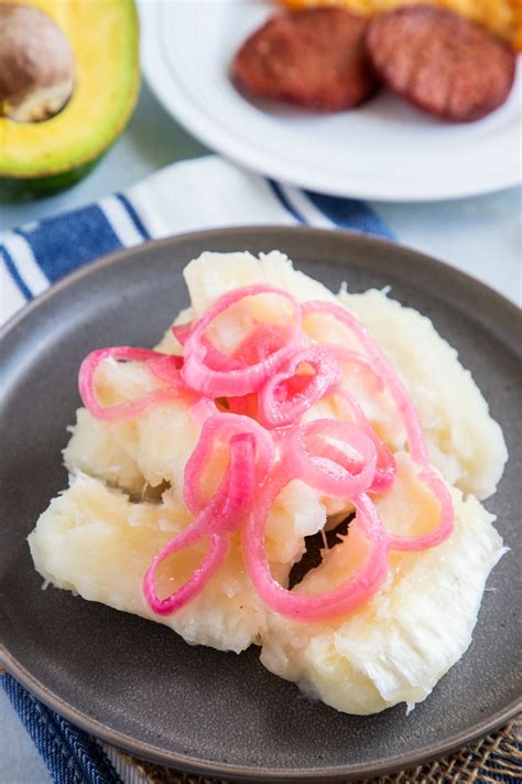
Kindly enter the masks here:
<path id="1" fill-rule="evenodd" d="M 42 705 L 10 675 L 1 680 L 56 784 L 122 784 L 90 735 Z"/>

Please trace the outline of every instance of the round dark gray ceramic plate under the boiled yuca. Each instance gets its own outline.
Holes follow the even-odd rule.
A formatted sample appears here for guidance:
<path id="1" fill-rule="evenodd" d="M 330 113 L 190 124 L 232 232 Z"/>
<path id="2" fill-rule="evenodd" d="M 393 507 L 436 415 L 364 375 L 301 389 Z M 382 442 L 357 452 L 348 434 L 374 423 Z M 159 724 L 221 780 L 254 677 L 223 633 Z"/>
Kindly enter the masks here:
<path id="1" fill-rule="evenodd" d="M 25 537 L 66 485 L 59 451 L 78 406 L 84 355 L 152 345 L 187 302 L 183 266 L 202 250 L 281 248 L 331 289 L 391 286 L 455 345 L 502 425 L 511 459 L 487 503 L 511 546 L 485 594 L 474 642 L 434 694 L 359 718 L 300 695 L 258 652 L 189 647 L 164 626 L 48 589 Z M 482 284 L 378 239 L 304 228 L 239 228 L 152 243 L 90 265 L 3 334 L 0 630 L 7 667 L 76 724 L 186 771 L 320 781 L 409 767 L 485 734 L 520 707 L 520 314 Z M 516 598 L 516 591 L 519 597 Z M 519 640 L 516 638 L 519 637 Z M 518 706 L 519 702 L 519 706 Z"/>

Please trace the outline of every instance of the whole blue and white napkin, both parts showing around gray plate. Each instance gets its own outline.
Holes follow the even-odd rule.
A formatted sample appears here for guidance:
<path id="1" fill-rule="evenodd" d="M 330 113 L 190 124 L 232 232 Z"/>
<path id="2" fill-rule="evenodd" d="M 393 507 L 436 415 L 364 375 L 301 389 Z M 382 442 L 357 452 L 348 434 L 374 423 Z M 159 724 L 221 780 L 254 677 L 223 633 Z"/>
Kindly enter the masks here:
<path id="1" fill-rule="evenodd" d="M 361 202 L 244 172 L 219 158 L 174 164 L 96 204 L 0 233 L 1 321 L 80 265 L 151 238 L 247 224 L 305 224 L 392 238 Z M 46 708 L 10 675 L 2 685 L 56 784 L 130 784 L 101 745 Z M 134 781 L 137 781 L 134 778 Z"/>

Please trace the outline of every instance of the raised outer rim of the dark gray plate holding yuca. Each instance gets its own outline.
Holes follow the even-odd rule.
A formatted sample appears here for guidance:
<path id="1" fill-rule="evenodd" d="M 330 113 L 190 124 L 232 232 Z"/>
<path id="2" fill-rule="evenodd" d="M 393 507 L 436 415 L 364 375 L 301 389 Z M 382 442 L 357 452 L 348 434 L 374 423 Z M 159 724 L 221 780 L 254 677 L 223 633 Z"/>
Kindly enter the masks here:
<path id="1" fill-rule="evenodd" d="M 229 226 L 221 228 L 214 228 L 207 230 L 195 230 L 187 232 L 183 234 L 173 235 L 171 237 L 165 237 L 162 239 L 150 240 L 142 243 L 132 248 L 121 248 L 117 251 L 108 254 L 98 258 L 95 261 L 88 262 L 69 275 L 62 278 L 58 282 L 51 286 L 46 291 L 44 291 L 39 297 L 34 298 L 31 303 L 21 311 L 15 313 L 0 330 L 0 342 L 3 344 L 6 339 L 8 339 L 13 332 L 15 332 L 20 325 L 31 318 L 34 311 L 39 310 L 48 300 L 54 299 L 59 296 L 63 291 L 70 289 L 81 281 L 86 277 L 96 276 L 99 271 L 109 267 L 112 268 L 117 266 L 122 258 L 129 258 L 135 255 L 142 254 L 145 249 L 153 249 L 161 246 L 172 246 L 172 245 L 184 245 L 193 241 L 211 241 L 213 237 L 237 237 L 241 235 L 258 236 L 262 238 L 262 235 L 278 233 L 282 235 L 282 243 L 284 243 L 284 236 L 302 236 L 303 234 L 313 234 L 320 238 L 323 236 L 325 239 L 333 239 L 339 241 L 351 243 L 356 240 L 356 244 L 377 246 L 381 249 L 395 248 L 400 249 L 403 258 L 412 264 L 422 262 L 432 267 L 432 269 L 443 269 L 444 275 L 453 277 L 453 280 L 459 286 L 471 287 L 475 291 L 480 292 L 488 297 L 489 300 L 494 301 L 496 309 L 501 308 L 504 314 L 509 319 L 514 318 L 522 322 L 522 312 L 515 305 L 515 303 L 508 300 L 501 293 L 490 288 L 482 281 L 460 271 L 459 269 L 441 261 L 432 256 L 427 256 L 421 251 L 405 246 L 398 246 L 395 243 L 390 240 L 376 237 L 373 235 L 366 235 L 359 232 L 339 230 L 339 229 L 326 229 L 326 228 L 314 228 L 311 226 L 280 226 L 280 225 L 252 225 L 252 226 Z M 146 250 L 145 250 L 146 253 Z M 522 354 L 522 352 L 520 352 Z M 466 745 L 474 740 L 489 734 L 491 731 L 498 727 L 507 723 L 511 718 L 513 718 L 518 712 L 522 710 L 522 696 L 515 697 L 509 705 L 504 706 L 502 709 L 496 711 L 493 715 L 482 719 L 480 722 L 476 722 L 470 728 L 461 730 L 453 738 L 448 739 L 445 743 L 433 742 L 427 747 L 424 747 L 423 751 L 414 751 L 410 754 L 402 754 L 395 760 L 383 764 L 382 762 L 376 763 L 352 763 L 342 766 L 335 767 L 323 767 L 323 769 L 301 769 L 301 770 L 289 770 L 289 769 L 269 769 L 269 767 L 252 767 L 243 766 L 237 764 L 229 764 L 224 762 L 209 762 L 204 760 L 198 760 L 197 758 L 189 754 L 180 754 L 165 752 L 162 749 L 154 747 L 150 743 L 142 742 L 130 735 L 127 735 L 118 730 L 115 730 L 107 724 L 93 719 L 85 715 L 81 710 L 78 710 L 69 702 L 61 699 L 57 695 L 51 691 L 43 683 L 39 680 L 35 675 L 32 675 L 25 667 L 20 664 L 15 656 L 11 654 L 4 645 L 0 645 L 0 662 L 8 673 L 10 673 L 17 680 L 19 680 L 28 690 L 37 697 L 46 706 L 55 710 L 61 716 L 72 721 L 75 726 L 85 730 L 86 732 L 96 735 L 100 740 L 104 740 L 118 749 L 122 749 L 135 756 L 151 760 L 153 762 L 164 764 L 171 767 L 178 767 L 182 771 L 189 773 L 197 773 L 203 775 L 221 775 L 228 776 L 229 778 L 236 778 L 240 781 L 341 781 L 341 780 L 352 780 L 359 778 L 361 775 L 383 775 L 387 773 L 392 773 L 398 770 L 409 770 L 418 764 L 429 762 L 434 759 L 439 759 L 446 754 L 455 751 L 456 749 Z"/>

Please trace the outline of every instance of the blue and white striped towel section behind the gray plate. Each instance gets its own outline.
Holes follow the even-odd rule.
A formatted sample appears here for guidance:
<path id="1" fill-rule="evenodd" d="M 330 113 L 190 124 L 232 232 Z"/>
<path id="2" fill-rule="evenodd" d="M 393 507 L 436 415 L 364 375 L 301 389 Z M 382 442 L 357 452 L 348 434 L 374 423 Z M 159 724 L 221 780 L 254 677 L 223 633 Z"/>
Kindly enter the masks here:
<path id="1" fill-rule="evenodd" d="M 361 202 L 283 186 L 209 155 L 176 163 L 126 195 L 0 233 L 1 320 L 79 265 L 181 232 L 253 224 L 309 224 L 391 237 Z"/>

